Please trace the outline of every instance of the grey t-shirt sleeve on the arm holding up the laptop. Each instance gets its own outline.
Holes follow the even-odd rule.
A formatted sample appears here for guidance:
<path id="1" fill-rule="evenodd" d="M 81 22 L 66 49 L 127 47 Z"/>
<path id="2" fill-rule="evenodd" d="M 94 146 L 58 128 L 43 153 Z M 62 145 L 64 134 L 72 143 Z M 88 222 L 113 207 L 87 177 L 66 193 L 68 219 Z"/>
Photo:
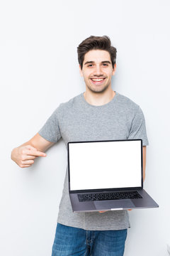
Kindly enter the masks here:
<path id="1" fill-rule="evenodd" d="M 135 117 L 132 119 L 128 139 L 142 139 L 143 146 L 149 145 L 145 126 L 145 117 L 139 107 Z"/>

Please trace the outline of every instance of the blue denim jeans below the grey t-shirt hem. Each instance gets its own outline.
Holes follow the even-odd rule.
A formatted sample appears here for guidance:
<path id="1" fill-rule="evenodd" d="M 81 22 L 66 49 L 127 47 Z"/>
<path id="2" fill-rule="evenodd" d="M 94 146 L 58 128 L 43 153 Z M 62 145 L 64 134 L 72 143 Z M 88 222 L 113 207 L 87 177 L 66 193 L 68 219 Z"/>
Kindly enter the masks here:
<path id="1" fill-rule="evenodd" d="M 57 223 L 52 256 L 123 256 L 125 230 L 89 231 Z"/>

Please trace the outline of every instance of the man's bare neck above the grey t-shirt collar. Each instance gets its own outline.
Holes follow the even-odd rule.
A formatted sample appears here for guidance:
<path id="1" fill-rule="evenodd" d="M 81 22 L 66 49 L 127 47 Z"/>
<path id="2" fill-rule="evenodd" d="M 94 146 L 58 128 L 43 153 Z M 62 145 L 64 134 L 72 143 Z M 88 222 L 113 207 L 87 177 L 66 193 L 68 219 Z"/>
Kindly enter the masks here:
<path id="1" fill-rule="evenodd" d="M 91 92 L 89 90 L 86 90 L 86 92 L 84 92 L 84 99 L 86 100 L 86 102 L 94 106 L 105 105 L 113 100 L 114 96 L 115 92 L 112 89 L 107 92 Z"/>

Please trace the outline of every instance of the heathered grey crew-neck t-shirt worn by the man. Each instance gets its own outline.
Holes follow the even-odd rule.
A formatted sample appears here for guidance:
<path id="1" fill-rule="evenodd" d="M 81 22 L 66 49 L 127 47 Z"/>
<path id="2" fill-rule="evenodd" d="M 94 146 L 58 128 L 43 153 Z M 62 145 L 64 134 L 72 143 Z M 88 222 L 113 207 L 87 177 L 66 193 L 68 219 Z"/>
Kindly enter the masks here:
<path id="1" fill-rule="evenodd" d="M 62 137 L 66 146 L 67 142 L 111 139 L 142 139 L 143 146 L 148 145 L 145 117 L 140 106 L 118 92 L 113 100 L 102 106 L 90 105 L 84 93 L 60 104 L 39 134 L 49 142 L 57 142 Z M 84 230 L 130 228 L 128 210 L 73 213 L 67 171 L 57 221 Z"/>

